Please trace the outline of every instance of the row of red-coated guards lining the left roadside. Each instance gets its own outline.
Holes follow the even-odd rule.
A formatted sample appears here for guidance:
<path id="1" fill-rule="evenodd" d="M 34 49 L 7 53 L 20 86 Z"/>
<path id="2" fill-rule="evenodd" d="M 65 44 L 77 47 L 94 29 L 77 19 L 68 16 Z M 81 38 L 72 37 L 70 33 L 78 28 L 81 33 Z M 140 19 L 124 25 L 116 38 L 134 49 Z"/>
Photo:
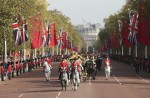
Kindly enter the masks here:
<path id="1" fill-rule="evenodd" d="M 24 74 L 25 72 L 30 72 L 33 69 L 37 69 L 42 66 L 45 57 L 42 58 L 30 58 L 27 60 L 16 60 L 8 59 L 6 63 L 0 62 L 0 76 L 1 81 L 5 80 L 7 77 L 11 80 L 12 77 L 19 76 Z"/>

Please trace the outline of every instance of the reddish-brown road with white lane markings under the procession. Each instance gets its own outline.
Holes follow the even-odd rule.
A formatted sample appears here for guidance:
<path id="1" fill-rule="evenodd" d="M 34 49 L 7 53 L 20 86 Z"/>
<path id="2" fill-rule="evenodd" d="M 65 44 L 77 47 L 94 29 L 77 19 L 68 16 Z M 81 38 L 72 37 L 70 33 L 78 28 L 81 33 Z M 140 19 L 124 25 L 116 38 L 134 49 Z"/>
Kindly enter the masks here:
<path id="1" fill-rule="evenodd" d="M 112 61 L 110 79 L 105 79 L 102 70 L 96 80 L 81 83 L 77 91 L 72 90 L 72 84 L 67 91 L 61 91 L 58 64 L 52 63 L 49 82 L 46 82 L 42 68 L 0 81 L 0 98 L 150 98 L 150 73 L 136 75 L 133 67 L 118 61 Z"/>

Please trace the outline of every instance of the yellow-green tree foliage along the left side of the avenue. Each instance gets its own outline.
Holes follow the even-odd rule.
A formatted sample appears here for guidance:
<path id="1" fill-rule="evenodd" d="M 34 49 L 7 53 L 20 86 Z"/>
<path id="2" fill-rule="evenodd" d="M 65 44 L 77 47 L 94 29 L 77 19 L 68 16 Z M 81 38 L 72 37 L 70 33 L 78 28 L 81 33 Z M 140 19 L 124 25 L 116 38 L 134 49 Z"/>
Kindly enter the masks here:
<path id="1" fill-rule="evenodd" d="M 18 15 L 21 19 L 27 20 L 29 23 L 30 18 L 41 14 L 42 25 L 49 21 L 50 23 L 56 23 L 56 31 L 59 33 L 59 29 L 62 28 L 68 32 L 69 39 L 73 40 L 76 45 L 83 46 L 83 39 L 81 39 L 71 24 L 69 17 L 63 15 L 60 11 L 50 10 L 47 11 L 46 0 L 0 0 L 0 51 L 4 50 L 4 40 L 7 41 L 8 50 L 23 50 L 24 46 L 30 50 L 31 44 L 31 31 L 28 30 L 29 40 L 19 46 L 15 45 L 13 29 L 11 27 L 14 17 Z M 31 24 L 28 24 L 29 28 L 32 28 Z M 22 28 L 20 26 L 20 28 Z M 47 47 L 47 50 L 48 47 Z"/>

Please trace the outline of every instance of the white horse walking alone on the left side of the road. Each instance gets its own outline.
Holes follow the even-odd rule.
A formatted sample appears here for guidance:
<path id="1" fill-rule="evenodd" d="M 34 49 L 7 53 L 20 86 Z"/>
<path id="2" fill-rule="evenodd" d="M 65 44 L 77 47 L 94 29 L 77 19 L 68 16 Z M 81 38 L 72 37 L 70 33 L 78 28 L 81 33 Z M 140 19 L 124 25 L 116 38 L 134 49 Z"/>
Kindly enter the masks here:
<path id="1" fill-rule="evenodd" d="M 47 61 L 43 63 L 43 72 L 45 73 L 46 81 L 50 81 L 52 66 Z"/>

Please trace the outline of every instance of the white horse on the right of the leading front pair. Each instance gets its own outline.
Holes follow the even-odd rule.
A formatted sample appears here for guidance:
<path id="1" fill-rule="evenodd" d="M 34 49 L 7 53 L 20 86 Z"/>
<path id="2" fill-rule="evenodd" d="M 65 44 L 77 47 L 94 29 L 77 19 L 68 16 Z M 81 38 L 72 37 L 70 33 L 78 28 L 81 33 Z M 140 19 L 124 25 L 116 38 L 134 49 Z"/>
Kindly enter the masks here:
<path id="1" fill-rule="evenodd" d="M 77 69 L 78 69 L 77 65 L 74 65 L 74 68 L 72 69 L 72 81 L 73 81 L 72 89 L 74 91 L 77 90 L 77 86 L 79 86 L 80 83 L 79 72 Z"/>

